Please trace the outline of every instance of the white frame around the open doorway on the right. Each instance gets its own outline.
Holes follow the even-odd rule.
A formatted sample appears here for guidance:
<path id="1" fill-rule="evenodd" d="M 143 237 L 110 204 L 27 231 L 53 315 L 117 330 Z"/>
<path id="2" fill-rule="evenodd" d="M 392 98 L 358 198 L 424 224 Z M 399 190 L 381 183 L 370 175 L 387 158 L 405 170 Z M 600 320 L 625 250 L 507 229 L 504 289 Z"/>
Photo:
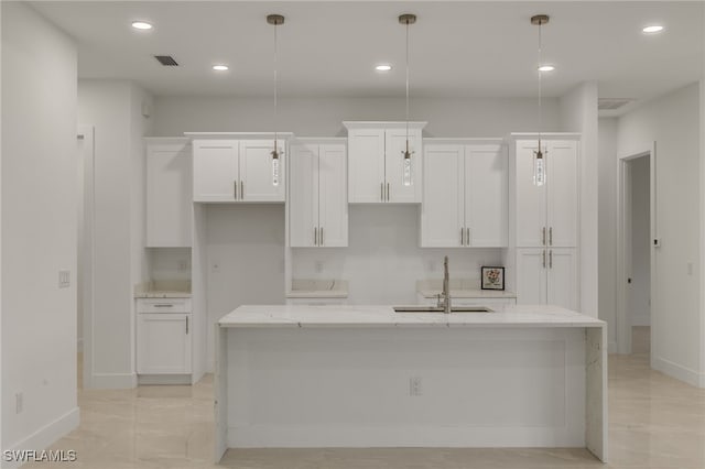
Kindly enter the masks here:
<path id="1" fill-rule="evenodd" d="M 631 325 L 628 315 L 628 292 L 627 279 L 630 274 L 631 249 L 629 241 L 631 240 L 631 177 L 628 164 L 639 157 L 649 159 L 649 211 L 650 211 L 650 270 L 651 285 L 650 297 L 652 308 L 650 310 L 653 316 L 653 305 L 657 305 L 653 285 L 658 283 L 655 276 L 655 257 L 653 240 L 658 239 L 657 232 L 657 143 L 652 142 L 650 149 L 620 156 L 617 161 L 617 309 L 616 309 L 616 340 L 617 353 L 631 353 Z M 657 342 L 653 340 L 658 325 L 651 320 L 651 356 L 654 357 Z"/>

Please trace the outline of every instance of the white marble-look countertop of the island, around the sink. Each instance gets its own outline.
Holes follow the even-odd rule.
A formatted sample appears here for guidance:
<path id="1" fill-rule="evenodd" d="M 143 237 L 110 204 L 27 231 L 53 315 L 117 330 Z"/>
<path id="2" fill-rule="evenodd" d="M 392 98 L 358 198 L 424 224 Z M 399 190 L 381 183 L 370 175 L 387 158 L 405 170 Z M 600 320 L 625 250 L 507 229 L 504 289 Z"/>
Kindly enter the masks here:
<path id="1" fill-rule="evenodd" d="M 507 305 L 494 313 L 397 313 L 375 305 L 243 305 L 220 327 L 604 327 L 590 316 L 550 305 Z"/>

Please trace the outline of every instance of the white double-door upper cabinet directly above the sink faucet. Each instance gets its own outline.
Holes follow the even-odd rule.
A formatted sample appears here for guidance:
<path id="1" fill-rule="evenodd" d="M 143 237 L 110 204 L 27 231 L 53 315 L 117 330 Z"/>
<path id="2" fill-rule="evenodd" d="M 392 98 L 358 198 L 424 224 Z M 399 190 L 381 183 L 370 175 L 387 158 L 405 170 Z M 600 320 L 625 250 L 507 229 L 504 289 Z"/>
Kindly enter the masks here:
<path id="1" fill-rule="evenodd" d="M 426 140 L 421 246 L 508 244 L 507 151 L 499 142 Z M 429 143 L 431 142 L 431 143 Z"/>

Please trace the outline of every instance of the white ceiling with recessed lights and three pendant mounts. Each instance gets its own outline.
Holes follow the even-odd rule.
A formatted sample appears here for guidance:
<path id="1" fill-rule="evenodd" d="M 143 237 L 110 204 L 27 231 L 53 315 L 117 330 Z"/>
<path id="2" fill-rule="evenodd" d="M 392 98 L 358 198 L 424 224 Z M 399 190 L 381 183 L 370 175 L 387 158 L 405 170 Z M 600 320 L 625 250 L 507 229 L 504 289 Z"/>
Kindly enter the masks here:
<path id="1" fill-rule="evenodd" d="M 155 95 L 269 96 L 273 26 L 279 26 L 283 96 L 403 96 L 404 26 L 411 25 L 412 96 L 536 96 L 538 28 L 543 26 L 544 96 L 596 80 L 603 98 L 648 99 L 703 76 L 704 2 L 675 1 L 33 1 L 78 44 L 82 78 L 128 78 Z M 131 21 L 147 20 L 151 32 Z M 661 34 L 641 28 L 661 23 Z M 163 67 L 155 54 L 172 55 Z M 230 70 L 210 66 L 227 63 Z M 373 66 L 390 63 L 390 73 Z"/>

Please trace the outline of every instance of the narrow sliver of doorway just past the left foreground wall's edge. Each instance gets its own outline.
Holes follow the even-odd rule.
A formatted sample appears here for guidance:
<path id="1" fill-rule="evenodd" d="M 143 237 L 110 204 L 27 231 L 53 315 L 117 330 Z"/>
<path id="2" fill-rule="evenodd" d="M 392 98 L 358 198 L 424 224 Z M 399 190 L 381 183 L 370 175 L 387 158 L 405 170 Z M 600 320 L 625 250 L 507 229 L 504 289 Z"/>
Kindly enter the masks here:
<path id="1" fill-rule="evenodd" d="M 94 128 L 79 126 L 77 139 L 76 375 L 82 389 L 93 386 Z"/>

